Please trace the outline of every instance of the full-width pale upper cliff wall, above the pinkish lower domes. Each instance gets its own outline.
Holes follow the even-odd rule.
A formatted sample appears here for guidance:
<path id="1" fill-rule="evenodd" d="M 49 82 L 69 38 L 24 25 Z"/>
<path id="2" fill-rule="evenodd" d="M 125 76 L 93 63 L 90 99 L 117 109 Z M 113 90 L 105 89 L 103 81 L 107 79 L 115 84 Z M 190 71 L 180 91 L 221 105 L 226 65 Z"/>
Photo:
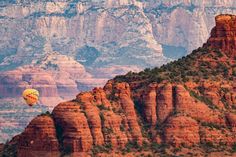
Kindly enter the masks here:
<path id="1" fill-rule="evenodd" d="M 235 6 L 233 0 L 2 2 L 1 67 L 30 64 L 50 50 L 86 67 L 158 66 L 167 61 L 161 45 L 169 54 L 173 47 L 191 52 L 207 40 L 214 16 L 234 14 Z"/>

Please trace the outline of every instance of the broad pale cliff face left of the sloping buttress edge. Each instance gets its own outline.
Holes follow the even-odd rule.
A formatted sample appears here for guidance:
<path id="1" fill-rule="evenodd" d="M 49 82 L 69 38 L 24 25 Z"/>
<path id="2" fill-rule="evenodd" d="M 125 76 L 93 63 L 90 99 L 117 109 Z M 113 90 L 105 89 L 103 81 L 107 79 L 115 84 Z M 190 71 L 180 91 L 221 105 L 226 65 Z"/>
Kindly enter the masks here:
<path id="1" fill-rule="evenodd" d="M 78 1 L 37 2 L 34 7 L 30 4 L 6 5 L 1 11 L 2 23 L 7 29 L 4 40 L 11 42 L 8 36 L 21 36 L 21 39 L 12 41 L 18 43 L 15 47 L 11 46 L 16 52 L 8 58 L 3 56 L 3 67 L 12 63 L 28 64 L 50 50 L 73 56 L 78 62 L 95 67 L 135 64 L 145 67 L 166 61 L 161 46 L 153 37 L 149 19 L 141 8 L 132 3 L 111 7 L 105 3 Z M 13 32 L 7 28 L 9 25 L 17 25 L 18 29 Z M 25 26 L 28 32 L 22 30 Z M 3 48 L 9 44 L 7 41 L 3 42 Z M 85 51 L 92 51 L 94 58 Z M 143 62 L 138 64 L 140 60 Z"/>

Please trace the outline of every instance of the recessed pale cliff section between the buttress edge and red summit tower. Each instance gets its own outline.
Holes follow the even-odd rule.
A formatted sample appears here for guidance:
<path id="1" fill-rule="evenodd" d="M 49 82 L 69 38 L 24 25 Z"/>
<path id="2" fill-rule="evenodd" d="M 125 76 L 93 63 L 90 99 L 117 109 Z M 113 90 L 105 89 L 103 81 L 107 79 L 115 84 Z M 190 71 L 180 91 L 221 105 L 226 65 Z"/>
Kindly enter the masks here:
<path id="1" fill-rule="evenodd" d="M 229 6 L 232 8 L 227 8 Z M 177 48 L 190 53 L 201 47 L 214 26 L 214 17 L 222 13 L 235 14 L 235 6 L 235 1 L 158 0 L 146 2 L 144 8 L 151 19 L 155 39 L 174 47 L 174 51 L 168 46 L 166 49 L 178 56 Z"/>

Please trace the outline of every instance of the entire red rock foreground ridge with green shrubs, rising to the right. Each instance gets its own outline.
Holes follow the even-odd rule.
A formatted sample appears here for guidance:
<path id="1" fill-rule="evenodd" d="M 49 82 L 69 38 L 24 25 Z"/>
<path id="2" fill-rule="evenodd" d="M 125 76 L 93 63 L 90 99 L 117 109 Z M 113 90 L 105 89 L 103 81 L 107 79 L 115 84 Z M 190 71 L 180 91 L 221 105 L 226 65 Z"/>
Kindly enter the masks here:
<path id="1" fill-rule="evenodd" d="M 160 68 L 117 76 L 36 117 L 14 145 L 34 156 L 235 156 L 236 16 Z"/>

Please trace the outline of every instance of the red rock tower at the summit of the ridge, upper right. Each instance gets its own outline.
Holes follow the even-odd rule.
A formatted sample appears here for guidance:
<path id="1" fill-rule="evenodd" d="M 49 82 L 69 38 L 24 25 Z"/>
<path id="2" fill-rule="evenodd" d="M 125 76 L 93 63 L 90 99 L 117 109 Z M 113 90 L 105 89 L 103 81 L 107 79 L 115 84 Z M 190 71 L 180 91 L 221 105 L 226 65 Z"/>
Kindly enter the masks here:
<path id="1" fill-rule="evenodd" d="M 216 26 L 211 31 L 207 45 L 220 49 L 231 58 L 236 57 L 236 17 L 233 15 L 219 15 Z"/>

